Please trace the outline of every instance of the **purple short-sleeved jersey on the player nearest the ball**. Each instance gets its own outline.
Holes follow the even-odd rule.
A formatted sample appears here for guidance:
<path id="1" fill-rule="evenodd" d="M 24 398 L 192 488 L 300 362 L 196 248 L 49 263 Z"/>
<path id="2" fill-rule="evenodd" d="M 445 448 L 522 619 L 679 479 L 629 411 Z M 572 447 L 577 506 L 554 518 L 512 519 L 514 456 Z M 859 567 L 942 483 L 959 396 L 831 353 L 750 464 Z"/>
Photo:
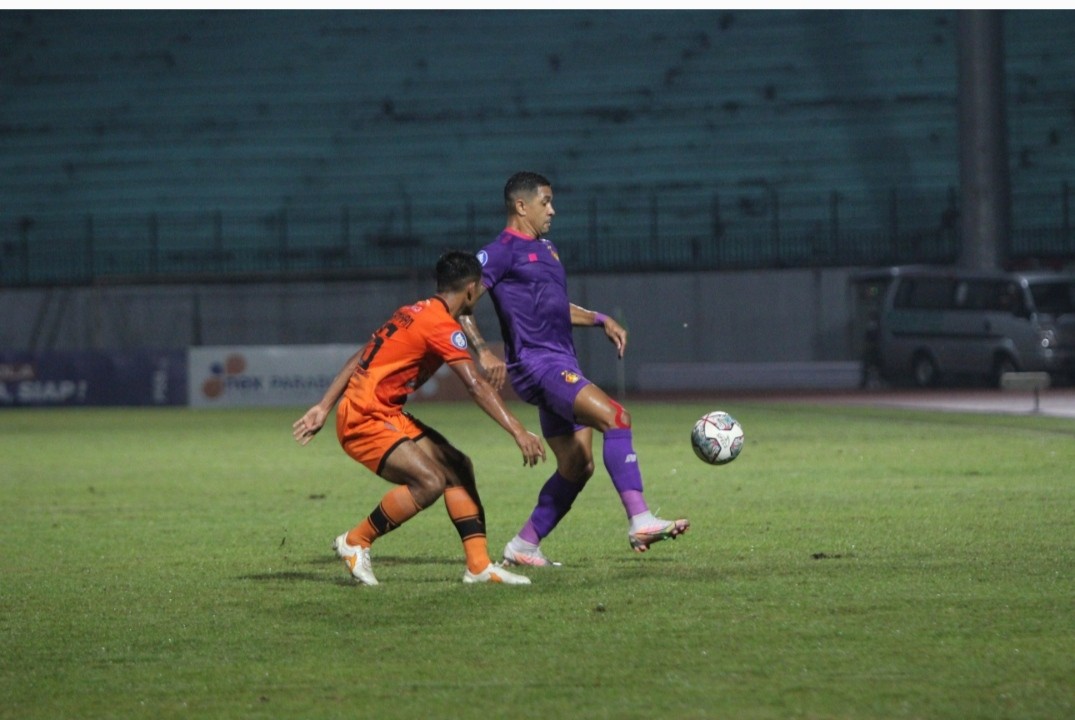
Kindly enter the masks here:
<path id="1" fill-rule="evenodd" d="M 543 359 L 575 357 L 568 276 L 556 246 L 504 229 L 477 254 L 500 318 L 507 369 L 531 374 Z"/>

